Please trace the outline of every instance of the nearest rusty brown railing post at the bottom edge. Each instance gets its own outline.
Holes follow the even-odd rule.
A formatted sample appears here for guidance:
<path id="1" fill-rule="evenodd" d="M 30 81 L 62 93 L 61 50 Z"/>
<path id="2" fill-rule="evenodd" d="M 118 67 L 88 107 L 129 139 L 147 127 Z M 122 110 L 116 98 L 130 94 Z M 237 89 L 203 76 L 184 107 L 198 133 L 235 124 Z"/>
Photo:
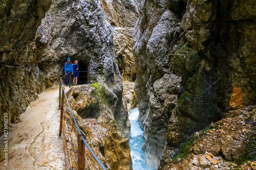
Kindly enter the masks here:
<path id="1" fill-rule="evenodd" d="M 86 136 L 84 134 L 78 134 L 78 159 L 77 159 L 77 165 L 78 165 L 78 170 L 84 170 L 84 166 L 86 165 L 85 162 L 85 144 L 82 141 L 82 137 L 86 139 Z"/>

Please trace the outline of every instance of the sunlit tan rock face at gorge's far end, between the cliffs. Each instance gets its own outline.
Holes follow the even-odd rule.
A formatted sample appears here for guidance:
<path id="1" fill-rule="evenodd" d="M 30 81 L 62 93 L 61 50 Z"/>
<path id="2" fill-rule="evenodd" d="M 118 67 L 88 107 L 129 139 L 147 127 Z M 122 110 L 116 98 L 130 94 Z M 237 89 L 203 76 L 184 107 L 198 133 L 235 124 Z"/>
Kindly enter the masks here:
<path id="1" fill-rule="evenodd" d="M 124 79 L 136 73 L 133 55 L 133 29 L 138 18 L 137 0 L 101 0 L 105 17 L 113 27 L 114 50 Z"/>

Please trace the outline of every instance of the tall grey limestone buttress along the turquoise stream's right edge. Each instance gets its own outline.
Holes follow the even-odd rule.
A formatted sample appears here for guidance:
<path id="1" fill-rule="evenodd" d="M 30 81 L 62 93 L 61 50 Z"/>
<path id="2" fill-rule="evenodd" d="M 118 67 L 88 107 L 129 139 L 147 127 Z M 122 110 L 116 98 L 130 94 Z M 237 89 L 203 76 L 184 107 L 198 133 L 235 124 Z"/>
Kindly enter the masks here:
<path id="1" fill-rule="evenodd" d="M 144 129 L 146 164 L 160 164 L 165 146 L 168 118 L 177 105 L 182 79 L 173 73 L 170 58 L 179 47 L 181 17 L 161 2 L 141 1 L 134 29 L 133 47 L 139 102 L 139 122 Z"/>

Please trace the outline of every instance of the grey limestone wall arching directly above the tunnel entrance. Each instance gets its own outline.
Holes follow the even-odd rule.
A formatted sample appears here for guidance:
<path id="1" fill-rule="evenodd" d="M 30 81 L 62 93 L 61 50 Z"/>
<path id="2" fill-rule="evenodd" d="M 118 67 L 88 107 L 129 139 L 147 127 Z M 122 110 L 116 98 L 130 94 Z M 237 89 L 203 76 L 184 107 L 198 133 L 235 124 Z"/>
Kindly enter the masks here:
<path id="1" fill-rule="evenodd" d="M 38 36 L 44 44 L 42 59 L 59 60 L 60 74 L 71 58 L 87 63 L 90 70 L 99 69 L 101 76 L 113 75 L 113 33 L 100 2 L 54 1 L 38 28 Z M 96 74 L 91 72 L 92 80 L 97 79 Z"/>

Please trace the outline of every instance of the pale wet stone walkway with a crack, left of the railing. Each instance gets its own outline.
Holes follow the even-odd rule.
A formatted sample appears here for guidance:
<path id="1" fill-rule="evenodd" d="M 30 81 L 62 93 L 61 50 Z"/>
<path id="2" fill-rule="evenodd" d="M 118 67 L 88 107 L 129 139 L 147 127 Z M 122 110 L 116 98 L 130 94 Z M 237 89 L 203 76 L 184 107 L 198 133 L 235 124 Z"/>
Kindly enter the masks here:
<path id="1" fill-rule="evenodd" d="M 58 136 L 58 87 L 38 97 L 8 133 L 8 166 L 4 165 L 4 136 L 0 138 L 0 169 L 65 169 L 63 141 Z"/>

